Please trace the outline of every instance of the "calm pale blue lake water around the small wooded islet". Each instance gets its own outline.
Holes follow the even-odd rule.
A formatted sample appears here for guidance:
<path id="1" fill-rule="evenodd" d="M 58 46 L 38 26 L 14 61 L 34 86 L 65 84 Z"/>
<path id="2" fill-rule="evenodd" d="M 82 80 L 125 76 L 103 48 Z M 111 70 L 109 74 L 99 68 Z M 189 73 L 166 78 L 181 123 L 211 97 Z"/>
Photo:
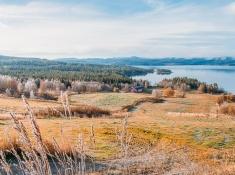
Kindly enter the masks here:
<path id="1" fill-rule="evenodd" d="M 134 79 L 146 79 L 156 84 L 164 78 L 190 77 L 206 83 L 217 83 L 228 92 L 235 93 L 235 66 L 139 66 L 142 68 L 170 69 L 170 75 L 158 75 L 156 72 Z"/>

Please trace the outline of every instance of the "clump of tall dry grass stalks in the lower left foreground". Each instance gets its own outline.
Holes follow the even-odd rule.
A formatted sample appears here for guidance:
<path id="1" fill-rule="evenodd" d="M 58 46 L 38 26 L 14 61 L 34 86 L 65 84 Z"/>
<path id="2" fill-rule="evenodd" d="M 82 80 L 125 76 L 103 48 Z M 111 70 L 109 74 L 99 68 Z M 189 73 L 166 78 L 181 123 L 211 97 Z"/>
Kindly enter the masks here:
<path id="1" fill-rule="evenodd" d="M 77 146 L 63 150 L 57 141 L 52 143 L 43 141 L 42 134 L 37 124 L 33 111 L 22 96 L 22 100 L 27 110 L 27 119 L 32 129 L 32 138 L 29 136 L 25 125 L 11 113 L 14 128 L 19 135 L 19 148 L 12 146 L 7 154 L 12 155 L 16 160 L 15 164 L 10 164 L 6 158 L 6 152 L 0 151 L 0 174 L 7 175 L 85 175 L 87 174 L 86 149 L 84 137 L 79 135 Z M 91 170 L 92 171 L 92 170 Z"/>

